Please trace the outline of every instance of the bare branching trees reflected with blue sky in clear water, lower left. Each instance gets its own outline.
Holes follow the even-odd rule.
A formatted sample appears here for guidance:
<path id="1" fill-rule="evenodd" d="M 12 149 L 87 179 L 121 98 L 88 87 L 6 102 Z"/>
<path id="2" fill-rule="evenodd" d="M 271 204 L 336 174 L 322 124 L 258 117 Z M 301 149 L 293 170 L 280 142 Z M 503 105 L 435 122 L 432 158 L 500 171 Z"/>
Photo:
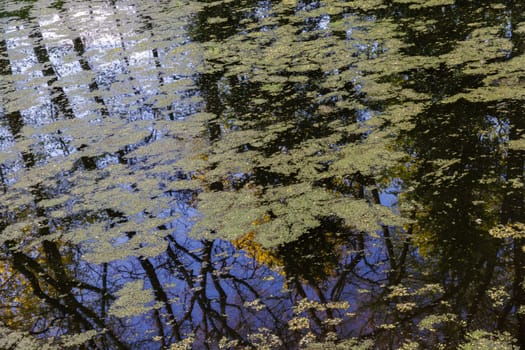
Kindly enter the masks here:
<path id="1" fill-rule="evenodd" d="M 95 329 L 99 335 L 88 343 L 94 348 L 149 347 L 154 343 L 167 346 L 189 334 L 201 339 L 195 346 L 218 344 L 221 340 L 256 346 L 253 339 L 263 328 L 276 337 L 277 343 L 292 346 L 301 334 L 294 336 L 287 330 L 292 306 L 299 300 L 312 299 L 317 302 L 305 309 L 314 322 L 311 327 L 320 336 L 335 329 L 323 321 L 340 314 L 338 305 L 329 303 L 319 277 L 317 282 L 306 284 L 292 277 L 285 285 L 282 275 L 264 265 L 254 265 L 227 242 L 181 244 L 171 235 L 168 240 L 166 253 L 155 259 L 139 257 L 101 265 L 75 262 L 81 250 L 68 255 L 49 241 L 42 243 L 43 253 L 38 259 L 15 251 L 8 257 L 12 271 L 4 271 L 4 276 L 27 281 L 28 286 L 19 288 L 30 290 L 32 295 L 25 294 L 23 307 L 16 311 L 12 308 L 10 315 L 3 314 L 3 321 L 48 337 Z M 73 260 L 65 263 L 67 256 Z M 152 299 L 128 300 L 131 304 L 123 306 L 117 300 L 118 307 L 106 314 L 105 305 L 113 304 L 118 289 L 143 278 Z M 130 289 L 128 293 L 140 291 Z M 136 313 L 134 308 L 140 305 L 143 313 Z M 10 319 L 25 325 L 15 325 Z"/>

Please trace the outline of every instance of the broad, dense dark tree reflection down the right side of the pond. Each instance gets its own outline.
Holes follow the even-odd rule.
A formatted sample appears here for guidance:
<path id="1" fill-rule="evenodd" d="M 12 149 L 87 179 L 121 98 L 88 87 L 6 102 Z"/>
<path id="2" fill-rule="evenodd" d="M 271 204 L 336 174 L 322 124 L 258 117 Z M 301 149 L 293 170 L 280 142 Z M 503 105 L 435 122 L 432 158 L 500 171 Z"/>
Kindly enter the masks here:
<path id="1" fill-rule="evenodd" d="M 458 9 L 454 16 L 469 15 Z M 418 41 L 409 50 L 417 52 L 427 44 Z M 522 128 L 522 111 L 513 107 L 511 96 L 495 103 L 487 97 L 462 94 L 461 89 L 483 89 L 483 84 L 476 74 L 466 75 L 457 67 L 448 70 L 442 65 L 438 71 L 419 68 L 400 74 L 407 77 L 403 85 L 429 93 L 434 100 L 400 138 L 412 155 L 408 172 L 402 173 L 410 191 L 402 199 L 416 203 L 416 222 L 409 232 L 422 261 L 409 262 L 408 268 L 416 270 L 400 281 L 401 289 L 394 290 L 397 299 L 391 300 L 397 301 L 398 315 L 404 315 L 394 317 L 394 324 L 406 333 L 389 332 L 390 346 L 401 344 L 410 334 L 424 346 L 440 342 L 457 348 L 463 336 L 476 329 L 509 331 L 523 346 L 517 312 L 522 288 L 520 282 L 516 284 L 522 280 L 521 242 L 509 242 L 509 246 L 489 234 L 501 222 L 523 220 L 522 187 L 513 184 L 523 179 L 524 159 L 521 151 L 509 149 L 509 140 L 522 137 L 515 129 Z M 454 87 L 450 81 L 461 85 Z M 514 214 L 506 214 L 509 195 L 520 214 L 514 209 Z M 411 301 L 423 281 L 438 283 L 440 292 Z M 429 327 L 430 321 L 439 328 Z M 418 330 L 412 328 L 416 325 Z"/>

